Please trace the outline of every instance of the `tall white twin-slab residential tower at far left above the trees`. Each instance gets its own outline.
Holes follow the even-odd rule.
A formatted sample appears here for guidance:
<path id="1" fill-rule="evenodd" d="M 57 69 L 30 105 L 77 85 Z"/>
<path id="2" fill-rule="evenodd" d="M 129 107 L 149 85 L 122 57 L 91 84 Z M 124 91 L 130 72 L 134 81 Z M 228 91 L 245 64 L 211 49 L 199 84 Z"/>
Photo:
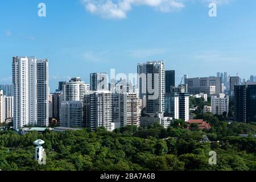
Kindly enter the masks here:
<path id="1" fill-rule="evenodd" d="M 13 57 L 14 128 L 48 126 L 48 60 Z"/>

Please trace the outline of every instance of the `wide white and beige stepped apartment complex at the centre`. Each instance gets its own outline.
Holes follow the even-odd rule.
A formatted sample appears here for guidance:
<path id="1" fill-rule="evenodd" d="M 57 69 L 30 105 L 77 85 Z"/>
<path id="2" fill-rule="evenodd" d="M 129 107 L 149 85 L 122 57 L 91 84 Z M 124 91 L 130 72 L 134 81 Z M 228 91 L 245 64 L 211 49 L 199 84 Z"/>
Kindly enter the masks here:
<path id="1" fill-rule="evenodd" d="M 93 131 L 104 126 L 112 131 L 117 126 L 139 126 L 138 93 L 115 93 L 106 90 L 85 93 L 83 121 Z"/>

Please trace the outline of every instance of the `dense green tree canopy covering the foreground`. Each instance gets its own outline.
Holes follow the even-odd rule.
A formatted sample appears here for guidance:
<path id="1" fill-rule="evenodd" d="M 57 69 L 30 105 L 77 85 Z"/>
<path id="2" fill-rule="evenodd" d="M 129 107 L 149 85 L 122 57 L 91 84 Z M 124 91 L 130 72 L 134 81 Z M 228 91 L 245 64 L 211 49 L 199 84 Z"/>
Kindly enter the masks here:
<path id="1" fill-rule="evenodd" d="M 155 124 L 147 128 L 126 126 L 113 133 L 103 128 L 56 133 L 46 131 L 18 135 L 0 132 L 2 170 L 256 170 L 255 123 L 219 121 L 200 115 L 212 126 L 187 130 L 184 121 L 167 130 Z M 250 133 L 249 137 L 238 134 Z M 211 142 L 202 142 L 207 135 Z M 34 160 L 34 142 L 46 143 L 46 165 Z M 209 164 L 209 151 L 217 152 L 217 165 Z"/>

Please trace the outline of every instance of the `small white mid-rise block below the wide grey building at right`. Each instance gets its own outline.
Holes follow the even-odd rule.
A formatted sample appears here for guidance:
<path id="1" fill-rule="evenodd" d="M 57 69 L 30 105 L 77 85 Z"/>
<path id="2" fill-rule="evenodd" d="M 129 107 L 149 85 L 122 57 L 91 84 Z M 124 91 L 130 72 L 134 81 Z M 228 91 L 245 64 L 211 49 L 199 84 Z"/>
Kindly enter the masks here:
<path id="1" fill-rule="evenodd" d="M 225 97 L 225 94 L 218 94 L 211 97 L 212 113 L 222 115 L 229 112 L 229 96 Z"/>

